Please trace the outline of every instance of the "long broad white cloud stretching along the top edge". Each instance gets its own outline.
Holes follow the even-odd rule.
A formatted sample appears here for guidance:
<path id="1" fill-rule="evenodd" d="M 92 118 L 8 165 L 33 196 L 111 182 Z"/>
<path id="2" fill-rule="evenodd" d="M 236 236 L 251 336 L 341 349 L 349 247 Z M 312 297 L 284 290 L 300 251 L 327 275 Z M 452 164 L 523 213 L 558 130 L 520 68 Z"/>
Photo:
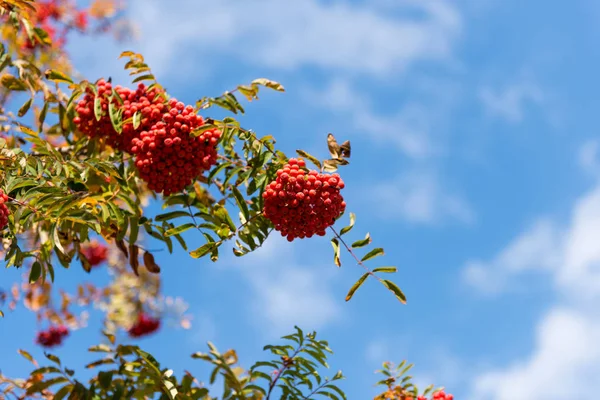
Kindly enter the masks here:
<path id="1" fill-rule="evenodd" d="M 317 66 L 389 74 L 415 61 L 450 56 L 461 30 L 452 6 L 405 0 L 396 8 L 420 12 L 422 18 L 392 18 L 375 8 L 318 0 L 131 3 L 143 51 L 161 72 L 204 68 L 222 55 L 280 69 Z"/>

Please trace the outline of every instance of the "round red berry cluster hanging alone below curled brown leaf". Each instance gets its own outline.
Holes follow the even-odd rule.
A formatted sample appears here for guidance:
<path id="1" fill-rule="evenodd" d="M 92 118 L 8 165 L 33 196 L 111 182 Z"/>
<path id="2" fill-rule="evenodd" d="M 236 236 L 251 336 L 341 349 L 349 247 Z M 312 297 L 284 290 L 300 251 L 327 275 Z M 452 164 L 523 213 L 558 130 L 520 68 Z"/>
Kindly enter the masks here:
<path id="1" fill-rule="evenodd" d="M 304 160 L 291 158 L 263 193 L 263 214 L 290 242 L 325 235 L 325 229 L 346 209 L 338 174 L 303 169 Z"/>

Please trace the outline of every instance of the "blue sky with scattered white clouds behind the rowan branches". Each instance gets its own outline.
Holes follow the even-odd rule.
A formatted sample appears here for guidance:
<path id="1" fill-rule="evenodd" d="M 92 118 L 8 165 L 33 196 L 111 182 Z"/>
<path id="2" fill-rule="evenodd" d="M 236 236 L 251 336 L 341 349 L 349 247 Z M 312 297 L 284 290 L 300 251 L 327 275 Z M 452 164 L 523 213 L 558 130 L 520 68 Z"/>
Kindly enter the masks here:
<path id="1" fill-rule="evenodd" d="M 405 358 L 419 382 L 445 385 L 457 399 L 595 393 L 600 4 L 165 4 L 131 2 L 136 43 L 71 41 L 78 69 L 126 83 L 117 56 L 133 49 L 186 102 L 256 77 L 280 81 L 287 92 L 264 92 L 242 122 L 288 153 L 324 158 L 327 132 L 352 141 L 341 174 L 358 216 L 353 233 L 371 232 L 386 249 L 380 264 L 399 266 L 394 280 L 408 305 L 373 282 L 345 303 L 361 270 L 345 254 L 337 270 L 325 238 L 273 236 L 256 254 L 217 264 L 160 253 L 164 292 L 186 299 L 193 327 L 165 329 L 142 346 L 202 376 L 187 357 L 206 340 L 235 347 L 249 366 L 299 324 L 330 340 L 350 399 L 372 398 L 373 371 Z M 5 272 L 2 282 L 17 278 Z M 94 326 L 92 318 L 62 349 L 70 367 L 88 360 L 76 349 L 97 341 Z M 33 329 L 27 315 L 0 324 L 3 372 L 28 371 L 15 348 L 32 347 Z"/>

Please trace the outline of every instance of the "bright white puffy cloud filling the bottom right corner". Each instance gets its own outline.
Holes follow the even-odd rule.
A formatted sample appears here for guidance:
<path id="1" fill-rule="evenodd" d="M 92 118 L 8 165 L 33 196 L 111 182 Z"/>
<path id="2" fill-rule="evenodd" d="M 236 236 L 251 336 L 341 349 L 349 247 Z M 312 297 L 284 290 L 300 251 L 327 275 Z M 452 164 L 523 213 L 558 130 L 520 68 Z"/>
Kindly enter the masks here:
<path id="1" fill-rule="evenodd" d="M 533 353 L 505 369 L 486 372 L 473 385 L 473 400 L 593 398 L 600 375 L 600 319 L 556 308 L 540 322 Z"/>

